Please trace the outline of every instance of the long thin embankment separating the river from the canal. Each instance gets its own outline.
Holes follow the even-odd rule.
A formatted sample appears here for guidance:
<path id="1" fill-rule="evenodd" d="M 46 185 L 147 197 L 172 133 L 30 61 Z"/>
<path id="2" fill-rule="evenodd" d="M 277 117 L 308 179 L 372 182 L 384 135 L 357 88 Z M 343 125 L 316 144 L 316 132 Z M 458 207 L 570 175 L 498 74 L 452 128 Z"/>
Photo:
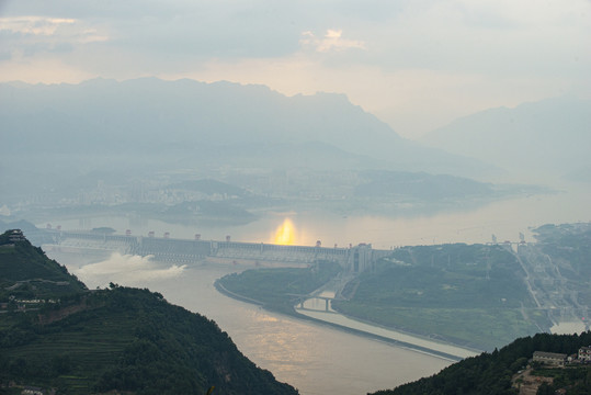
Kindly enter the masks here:
<path id="1" fill-rule="evenodd" d="M 378 341 L 384 341 L 384 342 L 387 342 L 387 343 L 393 345 L 395 347 L 399 347 L 399 348 L 411 350 L 411 351 L 414 351 L 414 352 L 420 352 L 420 353 L 429 354 L 429 356 L 432 356 L 432 357 L 441 358 L 441 359 L 450 361 L 450 362 L 459 362 L 459 361 L 462 361 L 464 359 L 464 357 L 454 356 L 452 353 L 447 353 L 447 352 L 444 352 L 444 351 L 433 350 L 433 349 L 431 349 L 429 347 L 413 345 L 411 342 L 407 342 L 407 341 L 402 341 L 402 340 L 396 340 L 396 339 L 393 339 L 393 338 L 389 338 L 389 337 L 386 337 L 386 336 L 380 336 L 378 334 L 373 334 L 373 332 L 370 332 L 370 331 L 365 331 L 365 330 L 352 328 L 352 327 L 349 327 L 349 326 L 344 326 L 344 325 L 327 321 L 327 320 L 323 320 L 323 319 L 319 319 L 319 318 L 316 318 L 316 317 L 307 316 L 305 314 L 297 313 L 293 308 L 292 308 L 291 312 L 289 311 L 279 311 L 279 309 L 274 309 L 274 308 L 269 308 L 266 306 L 266 304 L 261 302 L 261 301 L 257 301 L 257 300 L 253 300 L 253 298 L 250 298 L 250 297 L 247 297 L 247 296 L 243 296 L 243 295 L 240 295 L 240 294 L 237 294 L 235 292 L 231 292 L 231 291 L 227 290 L 224 285 L 221 285 L 219 283 L 219 280 L 216 280 L 214 282 L 214 286 L 220 294 L 223 294 L 225 296 L 228 296 L 228 297 L 231 297 L 231 298 L 235 298 L 237 301 L 245 302 L 245 303 L 261 306 L 265 311 L 274 313 L 274 314 L 284 314 L 286 316 L 289 316 L 289 317 L 293 317 L 293 318 L 296 318 L 296 319 L 307 320 L 307 321 L 316 324 L 316 325 L 327 326 L 327 327 L 338 329 L 338 330 L 342 330 L 342 331 L 353 334 L 353 335 L 356 335 L 356 336 L 361 336 L 361 337 L 365 337 L 365 338 L 370 338 L 370 339 L 374 339 L 374 340 L 378 340 Z M 376 326 L 376 328 L 379 328 L 379 327 Z M 413 334 L 407 334 L 407 336 L 414 337 Z M 417 339 L 421 339 L 421 338 L 419 336 L 417 336 Z M 455 345 L 450 345 L 450 346 L 456 347 Z M 471 350 L 469 350 L 469 351 L 471 351 Z"/>

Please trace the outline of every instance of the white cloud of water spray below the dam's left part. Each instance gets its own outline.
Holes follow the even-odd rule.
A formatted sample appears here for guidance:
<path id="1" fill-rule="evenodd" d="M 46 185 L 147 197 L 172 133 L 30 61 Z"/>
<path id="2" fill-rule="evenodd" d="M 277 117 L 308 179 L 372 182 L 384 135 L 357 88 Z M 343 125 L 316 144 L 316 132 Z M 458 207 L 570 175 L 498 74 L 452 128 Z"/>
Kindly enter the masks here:
<path id="1" fill-rule="evenodd" d="M 106 286 L 110 282 L 122 285 L 145 285 L 149 281 L 179 276 L 186 266 L 162 268 L 151 257 L 114 252 L 105 261 L 87 264 L 75 272 L 90 287 Z"/>

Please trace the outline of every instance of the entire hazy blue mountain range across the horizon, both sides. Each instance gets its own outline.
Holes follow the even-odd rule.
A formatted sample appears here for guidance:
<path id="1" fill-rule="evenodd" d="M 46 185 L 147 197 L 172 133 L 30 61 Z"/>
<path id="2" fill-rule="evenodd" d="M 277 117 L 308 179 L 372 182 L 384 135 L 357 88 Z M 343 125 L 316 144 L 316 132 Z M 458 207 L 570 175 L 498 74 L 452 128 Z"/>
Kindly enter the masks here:
<path id="1" fill-rule="evenodd" d="M 83 201 L 102 182 L 146 185 L 162 173 L 172 183 L 213 178 L 247 189 L 252 179 L 323 172 L 332 177 L 321 184 L 337 190 L 339 177 L 364 171 L 589 181 L 590 114 L 589 101 L 549 99 L 473 114 L 413 142 L 343 94 L 286 97 L 186 79 L 8 82 L 0 83 L 0 198 L 11 205 Z"/>

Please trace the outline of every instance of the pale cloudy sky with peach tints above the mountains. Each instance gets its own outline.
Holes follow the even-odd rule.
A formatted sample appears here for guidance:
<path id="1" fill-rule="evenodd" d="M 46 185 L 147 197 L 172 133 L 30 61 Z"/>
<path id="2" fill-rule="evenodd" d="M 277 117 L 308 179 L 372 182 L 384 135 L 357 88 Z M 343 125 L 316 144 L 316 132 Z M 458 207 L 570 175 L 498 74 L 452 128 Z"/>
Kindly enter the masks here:
<path id="1" fill-rule="evenodd" d="M 414 137 L 591 92 L 590 0 L 0 0 L 0 81 L 144 76 L 342 92 Z"/>

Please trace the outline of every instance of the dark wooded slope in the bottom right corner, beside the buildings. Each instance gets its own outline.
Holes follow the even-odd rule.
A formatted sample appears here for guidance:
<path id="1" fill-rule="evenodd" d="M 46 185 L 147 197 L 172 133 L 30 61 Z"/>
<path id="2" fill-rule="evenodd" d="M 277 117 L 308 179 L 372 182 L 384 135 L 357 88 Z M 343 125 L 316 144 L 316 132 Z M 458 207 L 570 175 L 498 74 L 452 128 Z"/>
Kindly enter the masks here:
<path id="1" fill-rule="evenodd" d="M 572 354 L 581 346 L 591 345 L 591 331 L 581 335 L 538 334 L 534 337 L 520 338 L 511 345 L 492 353 L 482 353 L 467 358 L 445 368 L 440 373 L 401 385 L 395 390 L 379 391 L 375 395 L 510 395 L 519 394 L 512 384 L 513 374 L 518 373 L 532 358 L 534 351 L 547 351 Z M 552 385 L 545 385 L 543 394 L 555 394 L 565 388 L 567 394 L 589 394 L 591 388 L 591 366 L 582 365 L 556 370 L 538 370 L 534 374 L 555 379 Z M 515 383 L 519 386 L 519 383 Z"/>

